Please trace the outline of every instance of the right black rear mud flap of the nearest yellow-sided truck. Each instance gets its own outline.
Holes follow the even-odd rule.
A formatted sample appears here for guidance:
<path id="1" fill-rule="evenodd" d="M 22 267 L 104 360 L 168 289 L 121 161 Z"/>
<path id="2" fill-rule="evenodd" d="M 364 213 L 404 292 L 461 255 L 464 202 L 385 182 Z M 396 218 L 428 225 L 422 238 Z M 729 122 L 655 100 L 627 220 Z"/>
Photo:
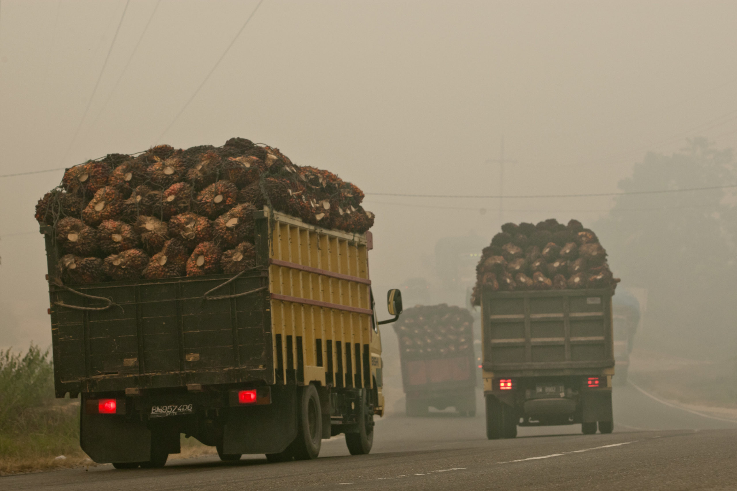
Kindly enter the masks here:
<path id="1" fill-rule="evenodd" d="M 231 407 L 223 453 L 279 453 L 297 436 L 297 386 L 272 386 L 268 406 Z"/>

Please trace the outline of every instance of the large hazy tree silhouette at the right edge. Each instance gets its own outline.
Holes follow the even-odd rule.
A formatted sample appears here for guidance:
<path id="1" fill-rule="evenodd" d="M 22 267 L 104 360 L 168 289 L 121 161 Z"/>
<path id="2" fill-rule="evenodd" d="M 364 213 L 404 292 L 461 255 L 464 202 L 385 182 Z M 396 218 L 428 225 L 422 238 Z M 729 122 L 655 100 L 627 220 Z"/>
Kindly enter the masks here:
<path id="1" fill-rule="evenodd" d="M 731 149 L 694 138 L 672 155 L 649 153 L 621 191 L 737 184 Z M 644 345 L 684 356 L 737 347 L 737 216 L 734 189 L 615 198 L 594 230 L 622 286 L 648 289 Z M 636 342 L 637 344 L 637 342 Z"/>

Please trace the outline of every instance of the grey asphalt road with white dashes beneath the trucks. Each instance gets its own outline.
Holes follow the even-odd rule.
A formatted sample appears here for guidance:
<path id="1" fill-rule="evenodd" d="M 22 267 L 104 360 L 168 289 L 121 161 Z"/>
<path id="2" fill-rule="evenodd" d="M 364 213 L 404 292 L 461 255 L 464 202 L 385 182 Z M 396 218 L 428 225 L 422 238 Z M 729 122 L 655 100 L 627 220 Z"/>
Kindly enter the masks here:
<path id="1" fill-rule="evenodd" d="M 172 460 L 151 470 L 106 465 L 0 478 L 0 489 L 737 490 L 737 423 L 666 406 L 633 386 L 616 388 L 614 400 L 609 435 L 582 435 L 571 425 L 520 428 L 516 439 L 489 441 L 481 410 L 475 418 L 392 415 L 377 423 L 368 456 L 349 456 L 335 437 L 311 462 L 244 456 L 227 464 Z"/>

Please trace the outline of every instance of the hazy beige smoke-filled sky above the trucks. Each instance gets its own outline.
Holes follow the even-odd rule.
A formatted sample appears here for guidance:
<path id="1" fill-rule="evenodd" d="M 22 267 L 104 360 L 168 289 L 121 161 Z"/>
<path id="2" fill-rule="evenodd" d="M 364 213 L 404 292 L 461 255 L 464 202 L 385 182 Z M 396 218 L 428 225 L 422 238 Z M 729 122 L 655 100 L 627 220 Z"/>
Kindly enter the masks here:
<path id="1" fill-rule="evenodd" d="M 737 2 L 705 0 L 264 0 L 160 136 L 256 4 L 0 0 L 0 174 L 265 142 L 369 194 L 383 290 L 443 236 L 490 238 L 498 200 L 370 193 L 497 194 L 502 135 L 505 194 L 616 191 L 648 150 L 737 136 Z M 0 177 L 0 346 L 50 342 L 33 207 L 62 174 Z M 585 224 L 610 204 L 506 199 L 505 218 Z"/>

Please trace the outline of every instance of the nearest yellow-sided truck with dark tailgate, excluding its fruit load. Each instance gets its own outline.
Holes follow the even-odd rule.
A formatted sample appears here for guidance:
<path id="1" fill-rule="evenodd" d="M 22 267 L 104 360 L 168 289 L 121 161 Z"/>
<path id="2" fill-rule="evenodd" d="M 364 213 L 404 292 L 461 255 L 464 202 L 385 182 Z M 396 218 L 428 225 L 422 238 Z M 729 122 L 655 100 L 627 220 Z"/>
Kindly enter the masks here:
<path id="1" fill-rule="evenodd" d="M 346 434 L 371 451 L 382 415 L 371 233 L 256 212 L 259 264 L 239 275 L 63 285 L 46 234 L 57 397 L 81 397 L 95 462 L 161 467 L 180 434 L 220 459 L 315 459 Z M 399 291 L 388 310 L 402 311 Z"/>

